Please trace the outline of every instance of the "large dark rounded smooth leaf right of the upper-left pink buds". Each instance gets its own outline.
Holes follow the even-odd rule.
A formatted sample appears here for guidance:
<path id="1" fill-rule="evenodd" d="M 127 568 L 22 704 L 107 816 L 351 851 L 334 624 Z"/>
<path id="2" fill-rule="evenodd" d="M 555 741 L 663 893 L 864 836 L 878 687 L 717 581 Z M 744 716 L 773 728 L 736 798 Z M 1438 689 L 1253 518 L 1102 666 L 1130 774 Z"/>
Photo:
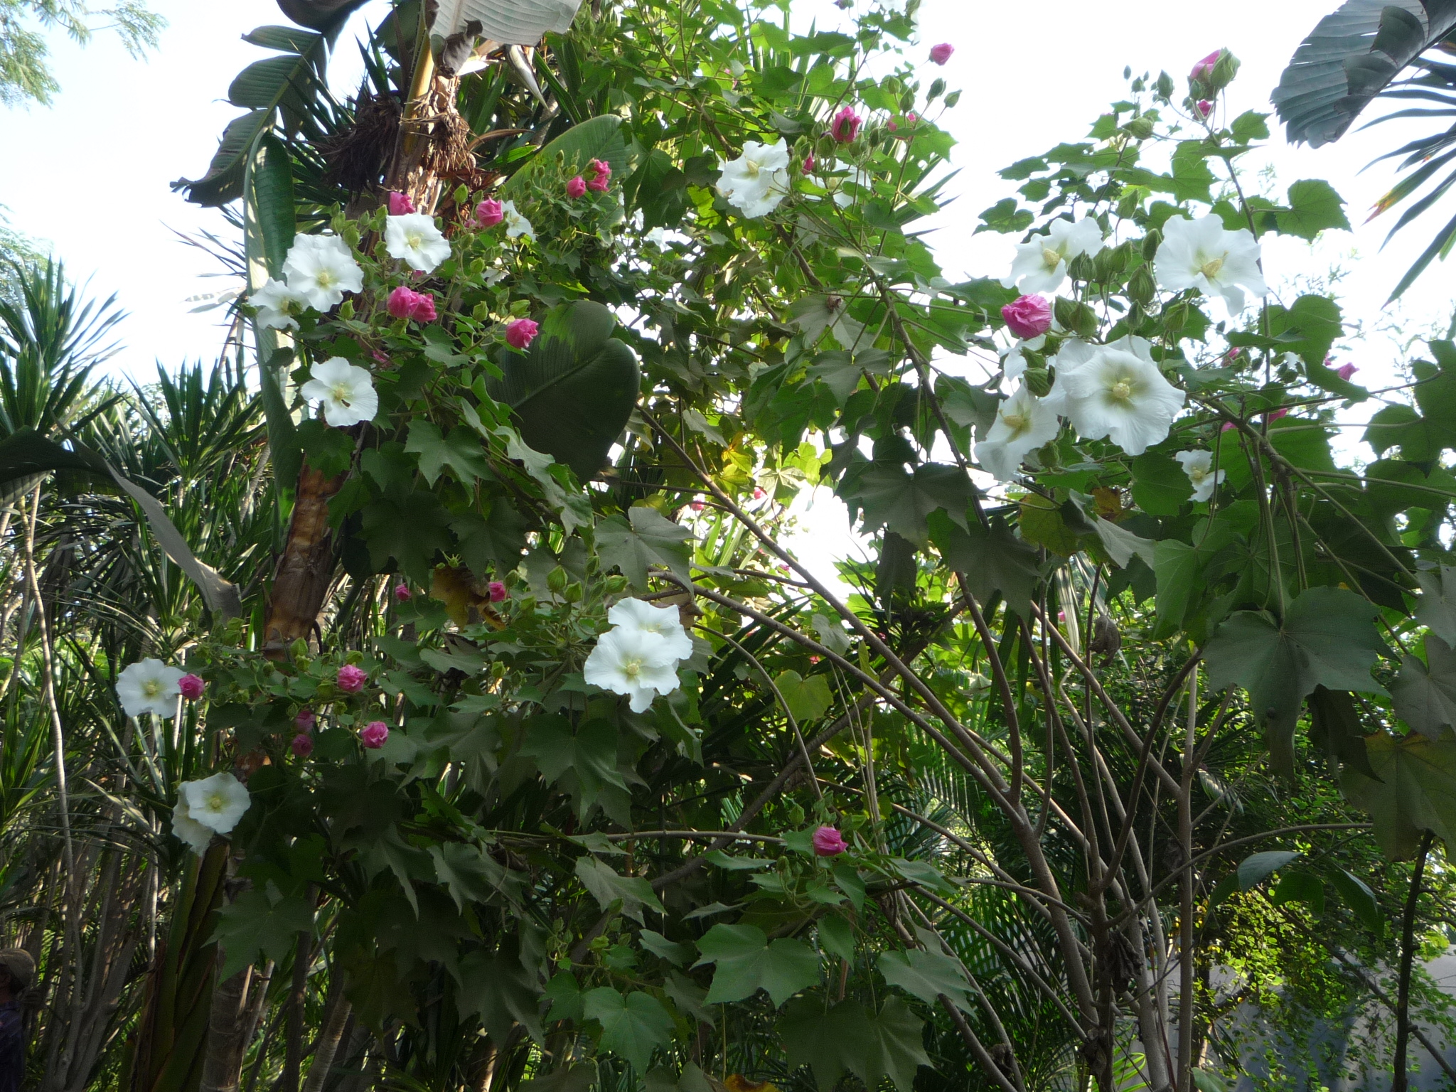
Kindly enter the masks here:
<path id="1" fill-rule="evenodd" d="M 505 354 L 501 379 L 489 383 L 491 397 L 520 422 L 521 440 L 582 482 L 607 462 L 642 383 L 636 354 L 612 336 L 616 322 L 593 300 L 553 307 L 530 352 Z"/>

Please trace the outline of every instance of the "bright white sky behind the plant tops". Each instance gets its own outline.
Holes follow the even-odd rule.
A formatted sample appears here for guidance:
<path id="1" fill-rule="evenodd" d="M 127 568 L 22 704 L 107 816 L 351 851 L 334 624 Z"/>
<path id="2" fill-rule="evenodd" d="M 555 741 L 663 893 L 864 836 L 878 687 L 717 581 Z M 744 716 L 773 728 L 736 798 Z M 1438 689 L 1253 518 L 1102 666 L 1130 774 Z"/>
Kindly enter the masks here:
<path id="1" fill-rule="evenodd" d="M 839 17 L 827 0 L 824 16 Z M 1008 239 L 974 236 L 977 214 L 1012 192 L 996 176 L 1002 166 L 1063 140 L 1083 137 L 1105 103 L 1125 93 L 1123 67 L 1134 73 L 1166 68 L 1178 80 L 1200 57 L 1227 47 L 1243 70 L 1230 93 L 1230 111 L 1268 109 L 1270 89 L 1300 39 L 1337 0 L 1222 0 L 1172 4 L 1168 0 L 1037 0 L 994 4 L 925 0 L 923 47 L 948 41 L 955 57 L 942 74 L 961 89 L 961 103 L 942 124 L 961 141 L 960 175 L 949 192 L 958 199 L 932 236 L 946 274 L 1002 275 Z M 122 325 L 125 351 L 115 367 L 146 381 L 153 361 L 176 367 L 211 358 L 220 344 L 220 312 L 191 314 L 189 297 L 217 291 L 204 278 L 211 259 L 173 234 L 202 229 L 224 232 L 217 213 L 188 205 L 167 183 L 202 173 L 224 124 L 239 111 L 226 102 L 227 86 L 264 51 L 240 35 L 264 23 L 285 22 L 272 0 L 154 0 L 170 25 L 150 61 L 130 60 L 114 39 L 98 35 L 80 50 L 54 42 L 54 67 L 63 86 L 50 109 L 0 111 L 0 204 L 12 226 L 47 240 L 73 275 L 92 277 L 96 294 L 115 291 L 131 317 Z M 377 19 L 384 0 L 373 0 L 355 22 Z M 826 19 L 821 19 L 821 26 Z M 338 71 L 352 90 L 358 71 L 354 28 L 342 39 Z M 1300 178 L 1328 178 L 1347 198 L 1356 230 L 1326 233 L 1316 248 L 1280 240 L 1265 252 L 1271 284 L 1294 275 L 1319 275 L 1332 264 L 1347 269 L 1338 291 L 1350 317 L 1370 332 L 1338 360 L 1361 368 L 1372 386 L 1392 374 L 1399 354 L 1374 331 L 1392 319 L 1409 332 L 1444 329 L 1452 314 L 1450 269 L 1437 265 L 1406 294 L 1402 306 L 1380 304 L 1425 240 L 1456 213 L 1439 207 L 1430 223 L 1402 232 L 1385 250 L 1386 220 L 1361 227 L 1366 211 L 1389 188 L 1392 173 L 1376 166 L 1358 173 L 1399 132 L 1389 127 L 1353 134 L 1319 151 L 1291 149 L 1275 132 L 1268 162 L 1280 191 Z M 823 518 L 823 517 L 821 517 Z"/>

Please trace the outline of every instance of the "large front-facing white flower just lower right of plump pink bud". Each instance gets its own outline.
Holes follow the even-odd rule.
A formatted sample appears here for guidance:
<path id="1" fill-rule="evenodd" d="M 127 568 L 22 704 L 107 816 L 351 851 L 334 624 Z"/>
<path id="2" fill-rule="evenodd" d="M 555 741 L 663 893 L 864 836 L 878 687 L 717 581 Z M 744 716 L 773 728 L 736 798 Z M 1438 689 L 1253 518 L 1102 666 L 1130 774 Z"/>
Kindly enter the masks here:
<path id="1" fill-rule="evenodd" d="M 1057 387 L 1059 409 L 1083 440 L 1108 437 L 1134 456 L 1168 435 L 1184 405 L 1184 393 L 1163 379 L 1142 338 L 1099 345 L 1085 363 L 1059 367 Z"/>

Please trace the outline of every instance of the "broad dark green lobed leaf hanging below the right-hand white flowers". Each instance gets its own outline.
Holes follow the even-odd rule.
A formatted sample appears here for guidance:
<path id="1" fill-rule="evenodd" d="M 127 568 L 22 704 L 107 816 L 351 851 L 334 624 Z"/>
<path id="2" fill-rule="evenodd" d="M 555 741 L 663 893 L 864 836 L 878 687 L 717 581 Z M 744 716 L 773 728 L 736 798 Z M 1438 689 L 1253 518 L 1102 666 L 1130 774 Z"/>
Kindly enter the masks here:
<path id="1" fill-rule="evenodd" d="M 1309 588 L 1277 622 L 1264 612 L 1230 616 L 1204 649 L 1214 689 L 1242 686 L 1264 728 L 1271 757 L 1293 769 L 1294 724 L 1316 686 L 1383 693 L 1370 667 L 1385 645 L 1374 629 L 1377 607 L 1342 588 Z"/>

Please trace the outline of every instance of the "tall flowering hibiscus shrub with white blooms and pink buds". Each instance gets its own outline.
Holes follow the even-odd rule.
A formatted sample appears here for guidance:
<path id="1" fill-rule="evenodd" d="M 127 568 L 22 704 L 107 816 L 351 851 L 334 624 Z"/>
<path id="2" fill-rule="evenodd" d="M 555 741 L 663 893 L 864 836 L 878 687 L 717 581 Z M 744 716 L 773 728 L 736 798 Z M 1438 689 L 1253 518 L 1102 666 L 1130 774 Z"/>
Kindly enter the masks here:
<path id="1" fill-rule="evenodd" d="M 1200 772 L 1324 748 L 1393 855 L 1424 837 L 1380 770 L 1450 747 L 1411 695 L 1446 670 L 1417 642 L 1453 351 L 1373 422 L 1399 457 L 1335 464 L 1328 406 L 1367 393 L 1324 365 L 1338 309 L 1275 300 L 1257 253 L 1340 202 L 1214 175 L 1264 131 L 1197 106 L 1222 60 L 1009 169 L 1013 265 L 949 284 L 914 233 L 949 52 L 871 79 L 909 13 L 719 15 L 582 16 L 529 135 L 491 114 L 536 116 L 524 77 L 446 77 L 418 124 L 489 125 L 469 170 L 381 170 L 252 293 L 293 331 L 271 443 L 303 469 L 268 601 L 202 648 L 250 801 L 226 967 L 326 962 L 320 1057 L 352 1018 L 355 1075 L 1191 1092 L 1219 881 L 1313 900 L 1335 872 L 1239 862 L 1361 821 L 1326 794 L 1230 833 Z M 849 598 L 783 546 L 815 483 L 874 542 Z"/>

